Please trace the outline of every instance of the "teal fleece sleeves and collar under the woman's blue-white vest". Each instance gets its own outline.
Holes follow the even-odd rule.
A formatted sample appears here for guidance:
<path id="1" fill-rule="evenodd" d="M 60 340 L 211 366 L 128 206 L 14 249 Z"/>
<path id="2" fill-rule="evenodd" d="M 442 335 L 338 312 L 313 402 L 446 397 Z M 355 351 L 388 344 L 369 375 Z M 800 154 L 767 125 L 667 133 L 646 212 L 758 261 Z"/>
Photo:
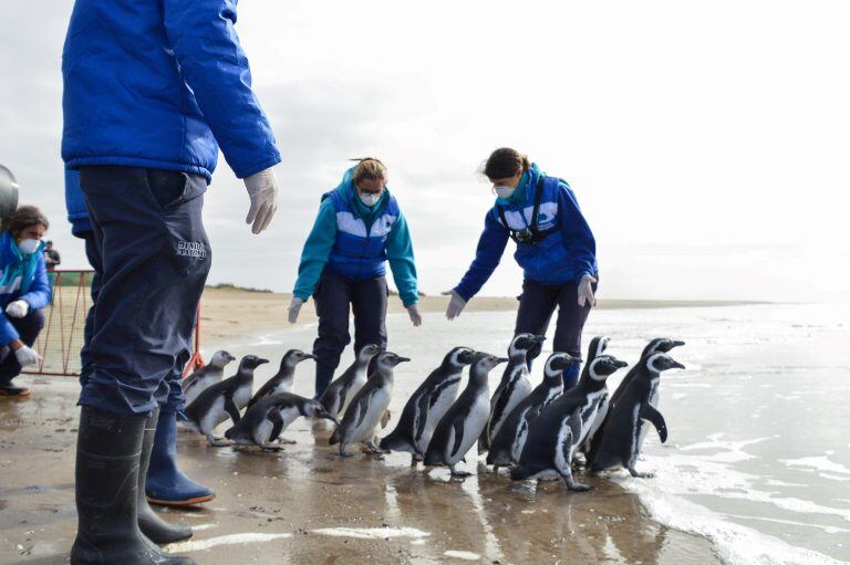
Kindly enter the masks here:
<path id="1" fill-rule="evenodd" d="M 346 171 L 343 181 L 335 190 L 342 192 L 342 197 L 351 202 L 355 216 L 364 221 L 366 230 L 370 230 L 375 219 L 387 206 L 390 189 L 384 192 L 379 202 L 373 207 L 366 207 L 357 198 L 351 185 L 351 171 Z M 336 211 L 331 198 L 324 198 L 319 206 L 319 215 L 315 218 L 310 236 L 304 242 L 301 253 L 301 264 L 298 268 L 298 281 L 293 294 L 301 300 L 308 300 L 315 291 L 315 285 L 328 265 L 331 252 L 336 243 L 338 224 Z M 413 257 L 413 241 L 407 228 L 404 215 L 398 213 L 398 219 L 390 230 L 386 239 L 386 259 L 393 272 L 393 280 L 398 287 L 398 294 L 405 306 L 416 304 L 419 300 L 417 290 L 416 263 Z"/>

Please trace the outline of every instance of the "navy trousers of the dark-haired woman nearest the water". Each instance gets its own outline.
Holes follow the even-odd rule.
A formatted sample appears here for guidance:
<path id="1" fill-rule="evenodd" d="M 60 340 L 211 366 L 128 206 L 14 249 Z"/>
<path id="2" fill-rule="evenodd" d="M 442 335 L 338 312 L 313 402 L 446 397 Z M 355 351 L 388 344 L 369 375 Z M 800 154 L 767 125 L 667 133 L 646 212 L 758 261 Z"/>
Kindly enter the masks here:
<path id="1" fill-rule="evenodd" d="M 597 276 L 598 278 L 598 276 Z M 593 292 L 597 284 L 593 284 Z M 558 308 L 558 322 L 552 341 L 553 352 L 566 352 L 573 357 L 581 356 L 581 332 L 590 314 L 590 304 L 579 306 L 579 287 L 576 283 L 547 285 L 535 281 L 522 281 L 522 295 L 519 297 L 517 325 L 514 335 L 529 333 L 546 334 L 554 308 Z M 528 353 L 528 366 L 540 355 L 542 344 Z M 572 387 L 579 379 L 579 364 L 573 364 L 563 374 L 564 388 Z"/>

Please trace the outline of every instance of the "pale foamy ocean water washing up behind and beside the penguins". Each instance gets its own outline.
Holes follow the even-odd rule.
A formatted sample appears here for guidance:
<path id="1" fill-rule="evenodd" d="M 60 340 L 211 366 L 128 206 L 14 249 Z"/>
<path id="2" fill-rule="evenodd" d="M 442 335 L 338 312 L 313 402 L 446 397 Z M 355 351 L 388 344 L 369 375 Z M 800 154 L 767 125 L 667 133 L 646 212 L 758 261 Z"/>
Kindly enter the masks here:
<path id="1" fill-rule="evenodd" d="M 387 326 L 390 348 L 413 359 L 396 372 L 390 430 L 450 347 L 504 353 L 514 313 L 466 313 L 450 323 L 428 314 L 419 328 L 394 315 Z M 272 359 L 259 386 L 286 349 L 309 350 L 314 335 L 314 325 L 301 326 L 227 346 Z M 585 345 L 595 335 L 611 337 L 608 353 L 630 365 L 653 337 L 687 343 L 672 352 L 686 369 L 662 376 L 667 442 L 651 431 L 638 465 L 655 477 L 614 472 L 611 481 L 635 492 L 659 522 L 709 538 L 725 562 L 850 561 L 850 304 L 594 311 Z M 343 364 L 350 360 L 349 350 Z M 499 376 L 491 374 L 491 388 Z M 611 377 L 611 389 L 621 376 Z M 312 396 L 312 367 L 301 367 L 296 391 Z"/>

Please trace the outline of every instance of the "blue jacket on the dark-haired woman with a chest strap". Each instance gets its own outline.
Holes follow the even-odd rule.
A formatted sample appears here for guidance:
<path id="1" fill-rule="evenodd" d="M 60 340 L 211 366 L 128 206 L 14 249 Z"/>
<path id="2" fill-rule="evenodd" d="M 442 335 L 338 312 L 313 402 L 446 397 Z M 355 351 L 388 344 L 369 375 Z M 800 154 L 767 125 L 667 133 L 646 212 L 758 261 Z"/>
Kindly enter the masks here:
<path id="1" fill-rule="evenodd" d="M 582 275 L 597 273 L 597 243 L 581 215 L 576 195 L 567 181 L 546 177 L 537 165 L 531 165 L 522 176 L 515 196 L 509 200 L 497 199 L 496 205 L 487 212 L 475 260 L 460 284 L 455 287 L 455 292 L 465 301 L 475 296 L 484 286 L 498 266 L 508 243 L 509 231 L 502 223 L 498 206 L 502 206 L 511 229 L 521 230 L 529 227 L 538 179 L 541 176 L 543 192 L 538 230 L 542 232 L 557 229 L 537 244 L 517 243 L 514 259 L 522 268 L 527 280 L 542 284 L 579 282 Z"/>

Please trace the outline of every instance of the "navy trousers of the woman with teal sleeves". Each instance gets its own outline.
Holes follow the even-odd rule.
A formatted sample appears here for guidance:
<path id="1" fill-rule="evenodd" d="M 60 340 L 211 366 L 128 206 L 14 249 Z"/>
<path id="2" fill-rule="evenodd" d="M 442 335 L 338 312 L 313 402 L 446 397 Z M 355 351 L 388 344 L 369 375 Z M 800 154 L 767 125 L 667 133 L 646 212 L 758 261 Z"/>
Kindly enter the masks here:
<path id="1" fill-rule="evenodd" d="M 351 343 L 350 313 L 354 313 L 354 350 L 367 344 L 386 348 L 386 278 L 355 281 L 333 273 L 322 273 L 313 300 L 319 316 L 319 337 L 313 343 L 315 355 L 315 394 L 321 395 L 340 365 L 340 357 Z"/>

